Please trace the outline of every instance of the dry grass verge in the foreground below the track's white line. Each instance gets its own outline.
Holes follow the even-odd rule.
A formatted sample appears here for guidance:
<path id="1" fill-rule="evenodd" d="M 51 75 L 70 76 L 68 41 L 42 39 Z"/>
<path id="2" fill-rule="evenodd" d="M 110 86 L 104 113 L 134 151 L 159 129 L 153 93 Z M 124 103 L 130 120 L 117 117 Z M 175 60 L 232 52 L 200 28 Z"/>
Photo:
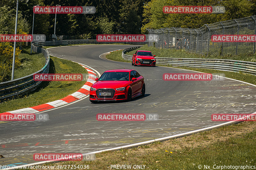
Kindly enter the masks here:
<path id="1" fill-rule="evenodd" d="M 62 161 L 42 166 L 89 165 L 93 170 L 111 169 L 111 165 L 145 165 L 145 169 L 159 170 L 198 170 L 200 166 L 207 169 L 205 165 L 209 169 L 224 165 L 255 166 L 255 129 L 255 122 L 242 122 L 163 142 L 102 152 L 96 154 L 94 161 Z"/>

